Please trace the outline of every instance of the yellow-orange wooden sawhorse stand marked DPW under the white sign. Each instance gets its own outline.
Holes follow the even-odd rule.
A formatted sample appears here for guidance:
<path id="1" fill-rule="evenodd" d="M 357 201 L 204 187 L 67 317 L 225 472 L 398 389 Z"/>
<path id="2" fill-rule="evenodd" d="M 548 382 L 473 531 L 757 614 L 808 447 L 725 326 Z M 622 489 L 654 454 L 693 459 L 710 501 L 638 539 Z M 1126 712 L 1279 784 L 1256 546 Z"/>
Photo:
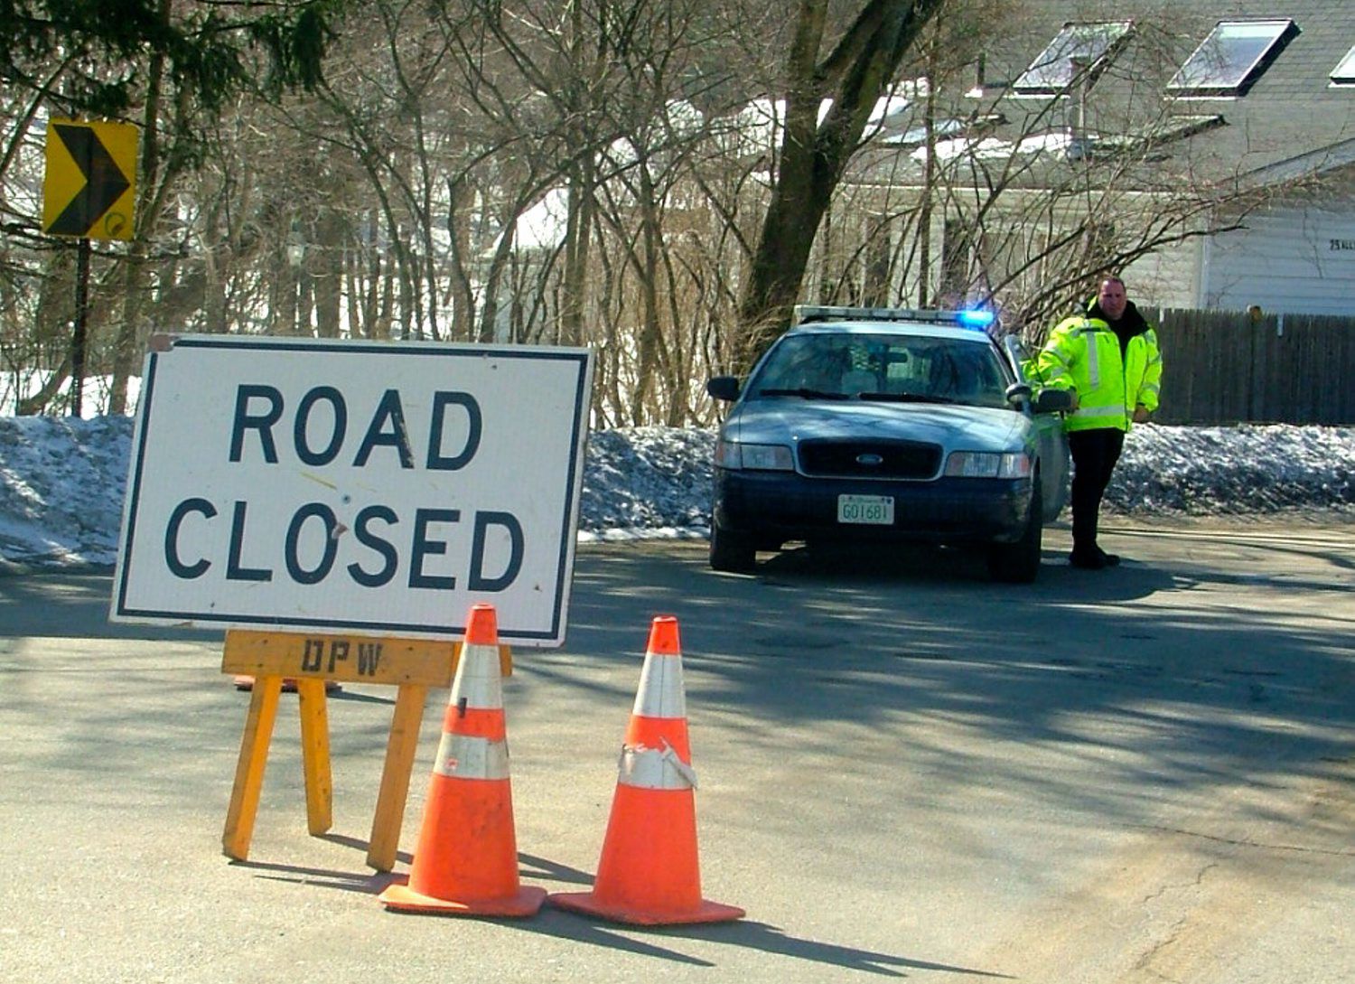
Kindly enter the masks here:
<path id="1" fill-rule="evenodd" d="M 249 857 L 283 678 L 297 682 L 306 827 L 312 836 L 325 834 L 333 823 L 325 680 L 375 683 L 396 686 L 398 691 L 367 843 L 367 865 L 378 872 L 392 870 L 428 689 L 451 686 L 459 652 L 461 642 L 439 640 L 228 630 L 222 672 L 253 676 L 255 683 L 221 838 L 226 857 L 236 861 Z M 499 665 L 504 676 L 512 674 L 512 652 L 505 645 L 499 647 Z"/>

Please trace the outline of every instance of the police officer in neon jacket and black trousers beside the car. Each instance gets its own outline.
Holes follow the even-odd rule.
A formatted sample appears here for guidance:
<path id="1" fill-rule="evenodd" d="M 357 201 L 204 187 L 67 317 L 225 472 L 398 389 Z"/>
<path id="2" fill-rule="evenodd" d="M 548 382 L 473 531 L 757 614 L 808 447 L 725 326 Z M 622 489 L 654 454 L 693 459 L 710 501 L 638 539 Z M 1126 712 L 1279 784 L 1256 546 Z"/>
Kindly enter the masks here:
<path id="1" fill-rule="evenodd" d="M 1099 571 L 1119 557 L 1096 544 L 1096 518 L 1125 434 L 1157 409 L 1163 355 L 1157 335 L 1118 276 L 1102 281 L 1085 316 L 1060 321 L 1037 356 L 1042 382 L 1073 394 L 1064 419 L 1073 455 L 1073 567 Z"/>

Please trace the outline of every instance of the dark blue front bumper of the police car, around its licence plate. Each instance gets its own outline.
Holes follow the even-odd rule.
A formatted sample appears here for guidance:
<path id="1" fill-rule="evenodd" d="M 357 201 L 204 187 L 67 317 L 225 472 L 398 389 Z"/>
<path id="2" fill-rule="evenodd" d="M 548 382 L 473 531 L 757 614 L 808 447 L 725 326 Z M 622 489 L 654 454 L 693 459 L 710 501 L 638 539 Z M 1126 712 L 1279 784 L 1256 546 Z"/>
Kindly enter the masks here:
<path id="1" fill-rule="evenodd" d="M 893 496 L 892 526 L 837 522 L 837 496 Z M 714 519 L 762 542 L 787 539 L 1011 542 L 1030 515 L 1030 478 L 856 481 L 715 469 Z"/>

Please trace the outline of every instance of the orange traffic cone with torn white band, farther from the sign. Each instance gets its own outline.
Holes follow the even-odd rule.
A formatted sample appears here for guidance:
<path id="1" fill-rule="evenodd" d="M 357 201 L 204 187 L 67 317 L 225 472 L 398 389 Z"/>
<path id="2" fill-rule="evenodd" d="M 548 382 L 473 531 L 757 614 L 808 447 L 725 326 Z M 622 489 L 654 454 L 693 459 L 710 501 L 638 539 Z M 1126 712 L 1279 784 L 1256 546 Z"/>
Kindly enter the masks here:
<path id="1" fill-rule="evenodd" d="M 550 903 L 644 926 L 743 918 L 740 908 L 701 897 L 695 787 L 678 619 L 660 615 L 649 630 L 593 889 L 556 893 Z"/>

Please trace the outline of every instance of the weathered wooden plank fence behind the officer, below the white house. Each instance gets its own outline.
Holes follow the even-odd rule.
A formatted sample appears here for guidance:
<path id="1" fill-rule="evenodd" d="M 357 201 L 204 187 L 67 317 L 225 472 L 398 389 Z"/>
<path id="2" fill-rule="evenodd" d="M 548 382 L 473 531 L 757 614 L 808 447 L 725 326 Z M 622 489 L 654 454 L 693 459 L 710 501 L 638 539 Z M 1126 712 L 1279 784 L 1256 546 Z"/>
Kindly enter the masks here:
<path id="1" fill-rule="evenodd" d="M 1355 424 L 1355 319 L 1167 309 L 1157 337 L 1159 423 Z"/>

